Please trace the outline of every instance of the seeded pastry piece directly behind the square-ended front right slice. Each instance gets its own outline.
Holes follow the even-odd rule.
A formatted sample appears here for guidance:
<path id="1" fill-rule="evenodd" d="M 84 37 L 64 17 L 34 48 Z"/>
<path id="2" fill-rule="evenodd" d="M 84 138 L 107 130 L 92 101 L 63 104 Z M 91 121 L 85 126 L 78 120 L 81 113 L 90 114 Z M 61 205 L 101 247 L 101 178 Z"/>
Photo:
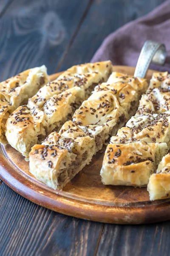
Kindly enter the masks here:
<path id="1" fill-rule="evenodd" d="M 169 112 L 169 111 L 168 111 Z M 116 136 L 111 137 L 111 143 L 130 143 L 144 141 L 147 143 L 170 143 L 170 113 L 159 115 L 132 117 L 126 127 L 119 129 Z"/>

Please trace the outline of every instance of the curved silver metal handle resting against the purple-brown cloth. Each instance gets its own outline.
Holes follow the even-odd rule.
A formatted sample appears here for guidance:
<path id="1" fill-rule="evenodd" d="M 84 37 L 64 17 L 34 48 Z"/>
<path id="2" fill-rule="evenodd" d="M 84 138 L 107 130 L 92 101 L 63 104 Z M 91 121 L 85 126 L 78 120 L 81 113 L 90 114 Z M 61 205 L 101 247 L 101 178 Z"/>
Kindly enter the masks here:
<path id="1" fill-rule="evenodd" d="M 134 76 L 144 78 L 150 63 L 163 65 L 167 56 L 164 44 L 148 40 L 144 43 L 136 65 Z"/>

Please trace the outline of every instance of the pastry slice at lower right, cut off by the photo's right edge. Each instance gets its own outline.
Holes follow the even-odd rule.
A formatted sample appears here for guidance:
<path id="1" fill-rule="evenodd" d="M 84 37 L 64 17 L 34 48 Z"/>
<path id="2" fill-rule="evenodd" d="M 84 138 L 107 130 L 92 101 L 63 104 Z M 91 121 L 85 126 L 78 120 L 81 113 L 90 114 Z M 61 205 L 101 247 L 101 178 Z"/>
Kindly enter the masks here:
<path id="1" fill-rule="evenodd" d="M 156 173 L 150 176 L 147 191 L 150 200 L 170 198 L 170 153 L 162 158 Z"/>

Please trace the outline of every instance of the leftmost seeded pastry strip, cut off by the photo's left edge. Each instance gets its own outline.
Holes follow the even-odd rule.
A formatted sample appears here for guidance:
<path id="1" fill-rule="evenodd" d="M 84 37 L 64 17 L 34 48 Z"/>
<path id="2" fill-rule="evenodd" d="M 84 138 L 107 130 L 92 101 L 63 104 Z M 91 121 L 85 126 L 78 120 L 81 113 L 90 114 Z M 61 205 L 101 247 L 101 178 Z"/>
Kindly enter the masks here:
<path id="1" fill-rule="evenodd" d="M 48 83 L 47 69 L 43 65 L 26 70 L 0 83 L 0 143 L 6 144 L 5 125 L 10 113 L 28 102 Z"/>

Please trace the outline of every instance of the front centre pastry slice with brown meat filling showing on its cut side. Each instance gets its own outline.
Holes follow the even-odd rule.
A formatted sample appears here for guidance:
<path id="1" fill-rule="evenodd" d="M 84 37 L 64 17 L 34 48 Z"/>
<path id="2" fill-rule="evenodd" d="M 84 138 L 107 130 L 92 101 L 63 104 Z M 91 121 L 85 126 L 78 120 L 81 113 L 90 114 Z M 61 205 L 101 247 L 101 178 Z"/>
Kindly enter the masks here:
<path id="1" fill-rule="evenodd" d="M 42 145 L 34 145 L 29 154 L 30 172 L 53 189 L 62 189 L 95 154 L 93 138 L 72 121 L 59 133 L 51 133 Z"/>

